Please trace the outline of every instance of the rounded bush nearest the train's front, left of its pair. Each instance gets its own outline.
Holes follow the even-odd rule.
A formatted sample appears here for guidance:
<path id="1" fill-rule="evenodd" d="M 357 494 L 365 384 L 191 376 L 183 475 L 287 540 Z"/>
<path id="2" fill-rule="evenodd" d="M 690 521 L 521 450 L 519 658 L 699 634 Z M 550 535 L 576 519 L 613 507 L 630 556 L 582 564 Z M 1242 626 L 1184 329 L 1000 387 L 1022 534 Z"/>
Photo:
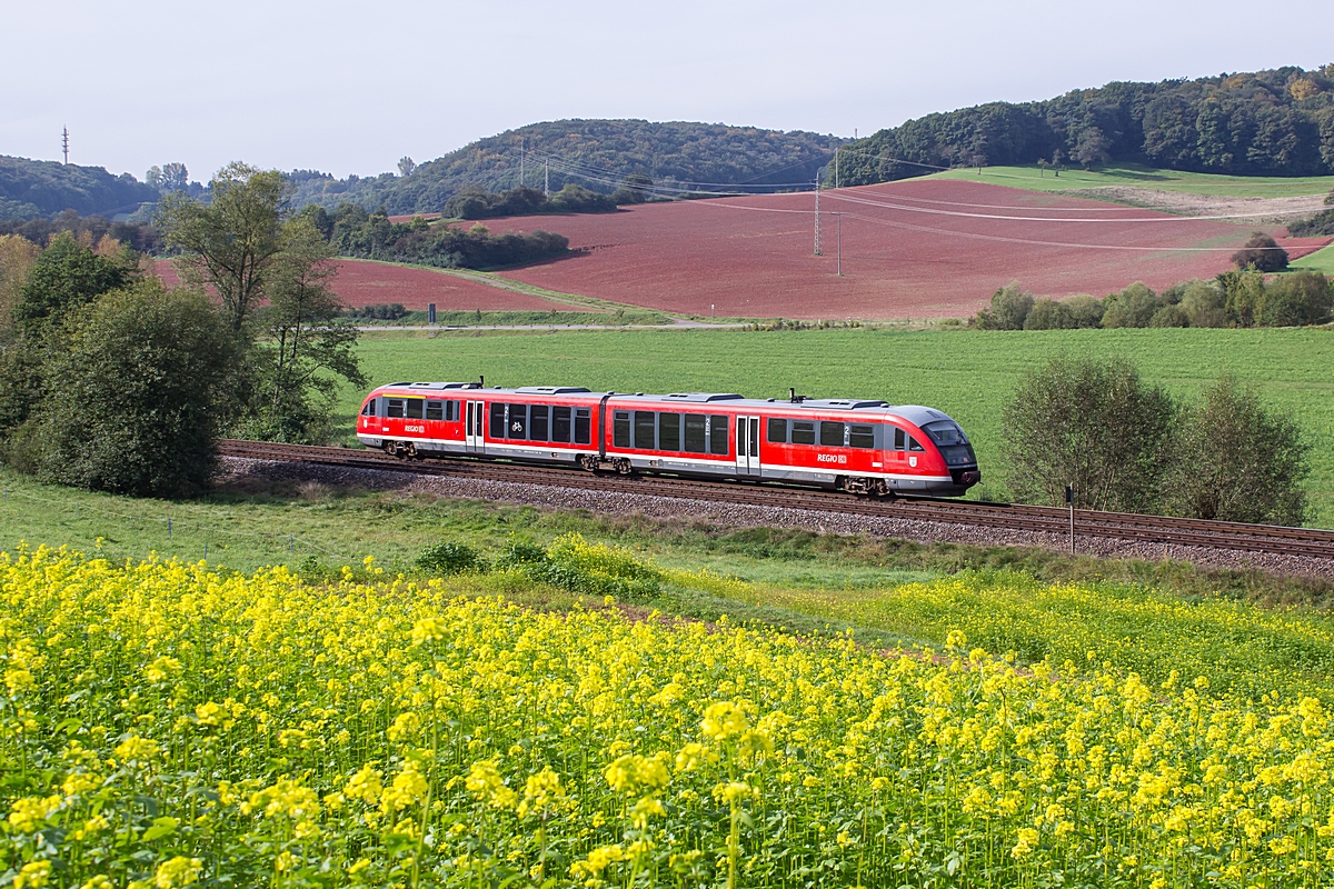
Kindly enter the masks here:
<path id="1" fill-rule="evenodd" d="M 1153 509 L 1174 419 L 1167 395 L 1129 361 L 1057 356 L 1005 408 L 1010 488 L 1022 501 L 1059 505 L 1069 482 L 1083 509 Z"/>

